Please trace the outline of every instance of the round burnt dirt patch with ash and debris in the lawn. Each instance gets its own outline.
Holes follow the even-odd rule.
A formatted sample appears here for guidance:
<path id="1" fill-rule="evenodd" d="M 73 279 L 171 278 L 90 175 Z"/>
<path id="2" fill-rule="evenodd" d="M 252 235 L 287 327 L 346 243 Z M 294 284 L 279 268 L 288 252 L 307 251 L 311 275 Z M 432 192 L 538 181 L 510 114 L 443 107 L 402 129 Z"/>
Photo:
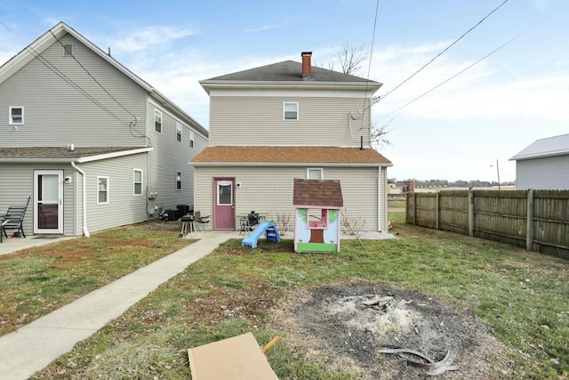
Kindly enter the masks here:
<path id="1" fill-rule="evenodd" d="M 360 379 L 423 378 L 426 363 L 412 354 L 384 354 L 406 348 L 433 360 L 458 349 L 453 365 L 439 378 L 501 378 L 511 375 L 507 352 L 488 327 L 469 311 L 418 292 L 377 284 L 347 284 L 303 289 L 271 315 L 270 325 L 284 331 L 294 352 L 324 365 L 356 371 Z M 389 303 L 366 306 L 377 297 Z"/>

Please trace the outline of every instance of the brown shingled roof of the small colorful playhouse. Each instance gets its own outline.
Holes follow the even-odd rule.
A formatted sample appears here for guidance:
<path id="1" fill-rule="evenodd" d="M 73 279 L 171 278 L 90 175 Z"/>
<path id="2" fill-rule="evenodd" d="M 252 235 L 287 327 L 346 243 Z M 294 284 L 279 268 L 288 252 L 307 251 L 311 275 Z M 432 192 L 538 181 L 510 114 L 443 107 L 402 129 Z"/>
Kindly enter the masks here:
<path id="1" fill-rule="evenodd" d="M 338 180 L 294 179 L 293 205 L 344 206 Z"/>

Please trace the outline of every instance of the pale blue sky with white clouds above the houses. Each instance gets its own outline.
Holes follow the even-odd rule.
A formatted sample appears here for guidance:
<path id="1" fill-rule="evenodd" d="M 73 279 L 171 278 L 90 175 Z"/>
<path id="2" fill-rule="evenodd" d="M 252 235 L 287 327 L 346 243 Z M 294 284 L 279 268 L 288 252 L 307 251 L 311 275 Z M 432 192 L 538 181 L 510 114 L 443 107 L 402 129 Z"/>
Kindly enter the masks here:
<path id="1" fill-rule="evenodd" d="M 569 1 L 503 2 L 4 1 L 0 62 L 64 21 L 207 128 L 198 80 L 302 51 L 327 68 L 342 45 L 363 45 L 358 75 L 384 84 L 373 121 L 389 130 L 389 178 L 496 181 L 498 160 L 501 181 L 514 181 L 509 158 L 569 133 Z"/>

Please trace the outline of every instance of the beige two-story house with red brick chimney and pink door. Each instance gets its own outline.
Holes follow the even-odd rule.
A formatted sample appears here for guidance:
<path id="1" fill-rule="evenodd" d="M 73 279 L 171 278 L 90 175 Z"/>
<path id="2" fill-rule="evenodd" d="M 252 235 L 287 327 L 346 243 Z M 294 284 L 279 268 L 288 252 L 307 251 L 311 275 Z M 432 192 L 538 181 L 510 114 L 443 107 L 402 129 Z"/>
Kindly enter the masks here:
<path id="1" fill-rule="evenodd" d="M 344 219 L 387 230 L 391 163 L 370 147 L 370 101 L 381 84 L 301 57 L 200 81 L 210 144 L 191 161 L 194 201 L 213 229 L 236 229 L 252 210 L 293 223 L 293 182 L 304 178 L 339 180 Z"/>

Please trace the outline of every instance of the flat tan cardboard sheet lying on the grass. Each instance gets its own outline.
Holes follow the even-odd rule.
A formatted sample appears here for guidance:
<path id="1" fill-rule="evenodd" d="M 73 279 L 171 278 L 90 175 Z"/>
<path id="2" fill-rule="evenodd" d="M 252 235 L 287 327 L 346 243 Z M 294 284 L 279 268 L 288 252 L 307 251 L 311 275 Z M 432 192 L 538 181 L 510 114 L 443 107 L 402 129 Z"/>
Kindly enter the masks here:
<path id="1" fill-rule="evenodd" d="M 276 379 L 252 333 L 188 349 L 192 380 Z"/>

